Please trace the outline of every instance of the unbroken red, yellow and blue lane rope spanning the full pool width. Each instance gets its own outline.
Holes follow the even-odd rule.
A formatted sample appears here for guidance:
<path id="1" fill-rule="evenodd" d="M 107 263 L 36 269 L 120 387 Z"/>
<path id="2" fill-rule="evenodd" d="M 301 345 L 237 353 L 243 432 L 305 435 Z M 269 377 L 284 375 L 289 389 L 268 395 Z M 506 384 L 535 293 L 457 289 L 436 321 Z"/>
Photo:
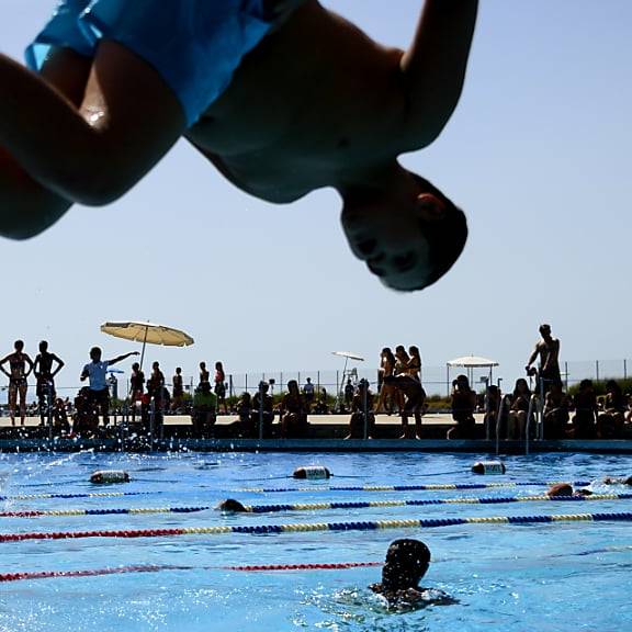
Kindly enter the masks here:
<path id="1" fill-rule="evenodd" d="M 25 540 L 69 540 L 83 538 L 163 538 L 176 535 L 219 535 L 225 533 L 296 533 L 308 531 L 371 531 L 379 529 L 431 529 L 462 524 L 532 524 L 576 521 L 632 522 L 632 512 L 538 515 L 538 516 L 490 516 L 473 518 L 411 518 L 404 520 L 376 520 L 353 522 L 300 522 L 295 524 L 256 524 L 223 527 L 185 527 L 170 529 L 120 529 L 95 531 L 50 531 L 30 533 L 0 533 L 0 542 Z"/>

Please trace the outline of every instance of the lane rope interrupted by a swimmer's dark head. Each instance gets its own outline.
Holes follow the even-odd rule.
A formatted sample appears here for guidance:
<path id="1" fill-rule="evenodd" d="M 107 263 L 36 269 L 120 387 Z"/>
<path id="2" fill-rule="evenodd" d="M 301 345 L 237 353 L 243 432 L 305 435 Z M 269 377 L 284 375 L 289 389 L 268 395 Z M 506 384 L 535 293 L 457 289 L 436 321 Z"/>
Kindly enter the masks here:
<path id="1" fill-rule="evenodd" d="M 369 509 L 372 507 L 424 507 L 428 505 L 501 505 L 506 503 L 582 503 L 584 500 L 630 500 L 632 494 L 592 494 L 591 496 L 508 496 L 508 497 L 460 497 L 436 498 L 433 500 L 370 500 L 349 503 L 298 503 L 295 505 L 244 505 L 249 514 L 274 514 L 280 511 L 316 511 L 328 509 Z M 214 507 L 133 507 L 109 509 L 59 509 L 59 510 L 26 510 L 0 511 L 0 518 L 46 518 L 46 517 L 80 517 L 80 516 L 133 516 L 151 514 L 194 514 L 207 511 Z"/>

